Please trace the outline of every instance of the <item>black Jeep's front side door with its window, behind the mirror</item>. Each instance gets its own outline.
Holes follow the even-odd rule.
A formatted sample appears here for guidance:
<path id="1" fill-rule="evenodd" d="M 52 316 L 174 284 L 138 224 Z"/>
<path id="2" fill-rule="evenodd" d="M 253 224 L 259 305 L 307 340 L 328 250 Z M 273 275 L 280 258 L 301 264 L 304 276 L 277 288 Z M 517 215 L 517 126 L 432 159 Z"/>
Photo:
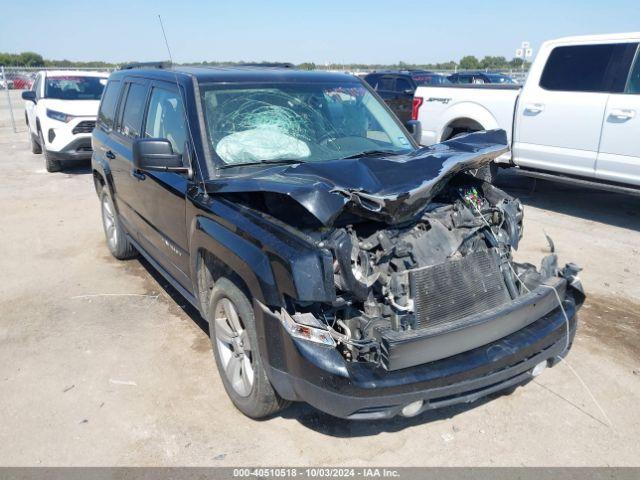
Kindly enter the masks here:
<path id="1" fill-rule="evenodd" d="M 183 164 L 192 151 L 187 142 L 184 103 L 175 84 L 152 82 L 142 129 L 144 138 L 171 142 Z M 161 266 L 189 291 L 189 247 L 186 225 L 186 192 L 191 181 L 173 172 L 137 173 L 135 209 L 143 220 L 140 242 Z"/>

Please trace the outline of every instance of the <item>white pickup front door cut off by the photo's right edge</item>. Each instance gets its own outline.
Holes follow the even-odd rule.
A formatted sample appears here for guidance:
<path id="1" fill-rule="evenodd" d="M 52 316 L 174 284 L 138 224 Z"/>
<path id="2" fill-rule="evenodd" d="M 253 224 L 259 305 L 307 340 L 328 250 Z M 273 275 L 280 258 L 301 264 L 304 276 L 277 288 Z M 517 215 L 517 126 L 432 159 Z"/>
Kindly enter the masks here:
<path id="1" fill-rule="evenodd" d="M 609 95 L 596 161 L 596 177 L 640 185 L 640 50 L 623 92 Z M 624 69 L 622 72 L 624 73 Z"/>

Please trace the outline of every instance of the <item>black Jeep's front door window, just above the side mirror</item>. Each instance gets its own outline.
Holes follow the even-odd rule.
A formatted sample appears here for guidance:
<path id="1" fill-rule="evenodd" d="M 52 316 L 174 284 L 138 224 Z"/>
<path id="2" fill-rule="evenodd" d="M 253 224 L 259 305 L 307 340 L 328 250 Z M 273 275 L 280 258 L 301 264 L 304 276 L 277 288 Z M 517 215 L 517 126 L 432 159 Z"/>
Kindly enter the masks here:
<path id="1" fill-rule="evenodd" d="M 145 121 L 144 136 L 166 138 L 173 151 L 182 154 L 187 139 L 185 115 L 176 91 L 153 88 Z"/>

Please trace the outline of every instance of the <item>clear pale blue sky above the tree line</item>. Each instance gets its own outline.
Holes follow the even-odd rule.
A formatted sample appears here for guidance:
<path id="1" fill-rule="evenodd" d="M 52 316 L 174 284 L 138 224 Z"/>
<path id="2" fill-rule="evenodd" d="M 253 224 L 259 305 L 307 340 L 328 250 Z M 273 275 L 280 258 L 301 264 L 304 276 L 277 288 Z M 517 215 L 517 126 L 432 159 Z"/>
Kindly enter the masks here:
<path id="1" fill-rule="evenodd" d="M 31 0 L 0 6 L 0 52 L 48 59 L 435 63 L 640 31 L 640 0 Z"/>

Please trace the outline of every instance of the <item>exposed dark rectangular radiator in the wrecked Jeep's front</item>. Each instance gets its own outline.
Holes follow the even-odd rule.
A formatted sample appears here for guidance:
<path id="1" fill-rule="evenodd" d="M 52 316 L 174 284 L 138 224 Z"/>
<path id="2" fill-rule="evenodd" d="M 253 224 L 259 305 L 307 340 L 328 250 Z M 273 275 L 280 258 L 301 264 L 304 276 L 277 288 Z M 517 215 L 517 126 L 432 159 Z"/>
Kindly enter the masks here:
<path id="1" fill-rule="evenodd" d="M 495 250 L 409 272 L 417 328 L 455 322 L 510 301 Z"/>

